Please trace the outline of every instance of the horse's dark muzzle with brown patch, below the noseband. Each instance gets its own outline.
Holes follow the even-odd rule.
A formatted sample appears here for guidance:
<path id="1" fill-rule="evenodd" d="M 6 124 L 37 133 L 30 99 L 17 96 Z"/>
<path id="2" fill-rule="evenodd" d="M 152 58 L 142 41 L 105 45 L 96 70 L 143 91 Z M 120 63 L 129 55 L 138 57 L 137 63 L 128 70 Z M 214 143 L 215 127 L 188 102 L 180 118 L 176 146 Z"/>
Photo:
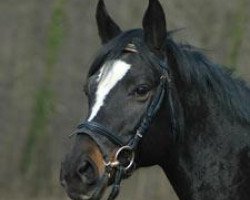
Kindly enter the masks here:
<path id="1" fill-rule="evenodd" d="M 81 135 L 61 164 L 61 185 L 73 200 L 91 199 L 104 168 L 98 146 L 88 135 Z"/>

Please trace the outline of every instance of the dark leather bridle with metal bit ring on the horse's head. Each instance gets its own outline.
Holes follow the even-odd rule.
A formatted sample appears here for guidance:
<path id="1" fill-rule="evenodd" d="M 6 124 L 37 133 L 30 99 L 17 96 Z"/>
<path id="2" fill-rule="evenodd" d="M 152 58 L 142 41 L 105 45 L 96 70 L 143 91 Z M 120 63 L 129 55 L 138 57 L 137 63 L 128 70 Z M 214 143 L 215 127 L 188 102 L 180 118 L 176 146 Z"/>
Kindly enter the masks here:
<path id="1" fill-rule="evenodd" d="M 137 49 L 135 48 L 135 45 L 133 44 L 128 44 L 125 48 L 125 51 L 138 53 Z M 114 133 L 113 131 L 109 130 L 108 128 L 97 122 L 87 121 L 77 127 L 75 134 L 89 135 L 99 146 L 104 158 L 105 172 L 101 178 L 99 187 L 96 189 L 93 196 L 91 197 L 91 199 L 93 200 L 98 200 L 101 198 L 111 178 L 111 173 L 114 171 L 114 183 L 108 200 L 113 200 L 117 197 L 117 195 L 119 194 L 121 180 L 125 176 L 128 176 L 131 173 L 132 168 L 135 167 L 135 151 L 138 147 L 140 140 L 148 131 L 153 119 L 159 111 L 166 91 L 170 92 L 170 90 L 166 90 L 166 85 L 169 86 L 171 80 L 170 73 L 167 68 L 167 62 L 165 60 L 157 60 L 159 63 L 159 68 L 161 70 L 161 76 L 159 84 L 157 86 L 155 97 L 151 101 L 146 113 L 138 124 L 138 128 L 135 129 L 135 135 L 129 140 L 128 143 L 122 141 L 121 138 L 118 137 L 118 134 Z M 115 146 L 119 147 L 112 160 L 110 159 L 108 153 L 104 151 L 104 148 L 102 148 L 102 144 L 100 144 L 100 142 L 96 139 L 96 135 L 105 137 Z"/>

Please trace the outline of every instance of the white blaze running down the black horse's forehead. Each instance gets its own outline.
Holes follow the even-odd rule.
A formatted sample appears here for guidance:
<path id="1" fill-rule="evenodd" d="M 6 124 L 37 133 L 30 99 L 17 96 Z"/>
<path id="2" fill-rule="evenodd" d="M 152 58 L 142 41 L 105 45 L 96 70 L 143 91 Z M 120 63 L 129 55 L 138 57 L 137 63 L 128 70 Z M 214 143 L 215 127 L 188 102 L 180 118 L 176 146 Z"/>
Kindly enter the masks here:
<path id="1" fill-rule="evenodd" d="M 88 121 L 94 119 L 100 108 L 104 105 L 105 98 L 115 85 L 127 74 L 131 65 L 121 61 L 109 61 L 105 63 L 98 75 L 98 86 L 96 90 L 95 103 L 91 109 Z"/>

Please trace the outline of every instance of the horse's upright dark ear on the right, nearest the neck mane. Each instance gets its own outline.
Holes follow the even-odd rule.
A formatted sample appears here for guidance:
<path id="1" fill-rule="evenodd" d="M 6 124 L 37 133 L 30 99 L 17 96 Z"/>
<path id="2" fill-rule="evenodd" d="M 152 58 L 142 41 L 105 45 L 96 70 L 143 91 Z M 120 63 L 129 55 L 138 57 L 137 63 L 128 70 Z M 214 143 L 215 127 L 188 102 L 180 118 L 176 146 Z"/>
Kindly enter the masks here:
<path id="1" fill-rule="evenodd" d="M 167 35 L 166 19 L 158 0 L 149 0 L 143 18 L 144 40 L 150 50 L 160 51 Z"/>

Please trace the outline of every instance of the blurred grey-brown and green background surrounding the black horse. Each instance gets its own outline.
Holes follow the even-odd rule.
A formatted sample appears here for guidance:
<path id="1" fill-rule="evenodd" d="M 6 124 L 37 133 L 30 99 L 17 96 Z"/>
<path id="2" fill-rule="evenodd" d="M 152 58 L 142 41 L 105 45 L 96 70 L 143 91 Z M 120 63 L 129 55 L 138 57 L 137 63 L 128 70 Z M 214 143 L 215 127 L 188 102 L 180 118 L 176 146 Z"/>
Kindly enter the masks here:
<path id="1" fill-rule="evenodd" d="M 176 41 L 250 80 L 249 0 L 161 0 Z M 58 181 L 69 133 L 84 118 L 83 83 L 100 46 L 97 0 L 0 0 L 0 199 L 67 199 Z M 147 0 L 106 0 L 125 30 Z M 122 184 L 119 200 L 177 200 L 157 168 Z"/>

